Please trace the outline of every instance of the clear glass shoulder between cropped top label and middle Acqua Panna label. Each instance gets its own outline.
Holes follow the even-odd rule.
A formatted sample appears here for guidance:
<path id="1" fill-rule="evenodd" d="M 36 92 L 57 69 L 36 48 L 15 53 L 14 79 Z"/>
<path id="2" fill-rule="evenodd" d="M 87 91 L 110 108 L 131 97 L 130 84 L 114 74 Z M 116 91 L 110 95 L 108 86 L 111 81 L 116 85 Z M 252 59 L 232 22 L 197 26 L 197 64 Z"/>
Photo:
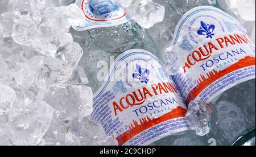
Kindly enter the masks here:
<path id="1" fill-rule="evenodd" d="M 84 50 L 79 65 L 84 68 L 89 80 L 88 86 L 92 88 L 93 93 L 96 93 L 105 81 L 102 80 L 105 77 L 100 72 L 101 65 L 107 63 L 109 70 L 112 64 L 110 60 L 113 61 L 121 53 L 140 48 L 158 55 L 158 49 L 147 32 L 133 20 L 114 27 L 94 28 L 81 32 L 71 28 L 71 33 L 74 42 L 79 43 Z"/>

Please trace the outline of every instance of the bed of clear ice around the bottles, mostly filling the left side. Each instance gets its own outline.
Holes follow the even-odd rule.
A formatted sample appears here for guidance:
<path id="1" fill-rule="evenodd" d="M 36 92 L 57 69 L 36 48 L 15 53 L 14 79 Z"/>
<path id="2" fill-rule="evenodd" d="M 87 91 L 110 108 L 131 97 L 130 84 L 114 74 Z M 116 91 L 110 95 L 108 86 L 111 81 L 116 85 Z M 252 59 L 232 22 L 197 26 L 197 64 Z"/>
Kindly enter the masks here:
<path id="1" fill-rule="evenodd" d="M 247 9 L 255 11 L 255 0 L 226 1 L 255 43 L 255 14 Z M 0 1 L 0 145 L 117 144 L 90 119 L 93 93 L 77 66 L 83 51 L 69 34 L 84 15 L 63 2 Z M 164 19 L 155 1 L 118 3 L 144 28 Z"/>

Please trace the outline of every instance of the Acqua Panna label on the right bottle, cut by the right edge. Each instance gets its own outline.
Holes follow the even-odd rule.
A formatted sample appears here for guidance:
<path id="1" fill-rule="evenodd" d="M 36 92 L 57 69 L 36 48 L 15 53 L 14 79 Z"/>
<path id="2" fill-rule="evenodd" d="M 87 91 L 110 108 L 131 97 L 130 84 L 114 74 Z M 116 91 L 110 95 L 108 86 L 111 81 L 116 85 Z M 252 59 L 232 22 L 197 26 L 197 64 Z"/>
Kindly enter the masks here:
<path id="1" fill-rule="evenodd" d="M 255 46 L 240 23 L 215 7 L 196 7 L 177 24 L 172 45 L 184 53 L 172 77 L 188 104 L 212 101 L 233 86 L 255 79 Z"/>

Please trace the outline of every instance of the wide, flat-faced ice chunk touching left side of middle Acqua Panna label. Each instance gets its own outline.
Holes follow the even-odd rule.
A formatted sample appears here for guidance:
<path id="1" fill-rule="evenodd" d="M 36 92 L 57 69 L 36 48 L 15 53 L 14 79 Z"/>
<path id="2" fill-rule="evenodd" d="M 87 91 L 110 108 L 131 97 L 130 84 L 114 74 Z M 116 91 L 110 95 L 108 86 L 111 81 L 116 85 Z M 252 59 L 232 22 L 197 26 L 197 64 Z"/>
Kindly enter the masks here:
<path id="1" fill-rule="evenodd" d="M 82 85 L 53 85 L 42 88 L 37 96 L 56 110 L 58 119 L 71 119 L 92 113 L 92 89 Z"/>

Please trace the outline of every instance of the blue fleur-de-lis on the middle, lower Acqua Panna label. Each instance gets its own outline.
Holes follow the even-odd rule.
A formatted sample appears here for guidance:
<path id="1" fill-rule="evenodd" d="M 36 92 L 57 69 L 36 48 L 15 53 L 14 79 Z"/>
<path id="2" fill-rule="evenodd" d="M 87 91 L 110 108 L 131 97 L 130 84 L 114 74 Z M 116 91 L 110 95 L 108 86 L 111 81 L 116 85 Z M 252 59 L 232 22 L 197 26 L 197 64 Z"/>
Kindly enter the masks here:
<path id="1" fill-rule="evenodd" d="M 147 82 L 149 81 L 149 79 L 148 79 L 149 75 L 150 75 L 150 71 L 148 71 L 148 69 L 146 69 L 146 68 L 143 69 L 143 68 L 141 68 L 141 66 L 136 64 L 136 71 L 135 71 L 135 73 L 133 73 L 134 79 L 138 79 L 142 83 L 145 82 L 147 84 Z"/>

